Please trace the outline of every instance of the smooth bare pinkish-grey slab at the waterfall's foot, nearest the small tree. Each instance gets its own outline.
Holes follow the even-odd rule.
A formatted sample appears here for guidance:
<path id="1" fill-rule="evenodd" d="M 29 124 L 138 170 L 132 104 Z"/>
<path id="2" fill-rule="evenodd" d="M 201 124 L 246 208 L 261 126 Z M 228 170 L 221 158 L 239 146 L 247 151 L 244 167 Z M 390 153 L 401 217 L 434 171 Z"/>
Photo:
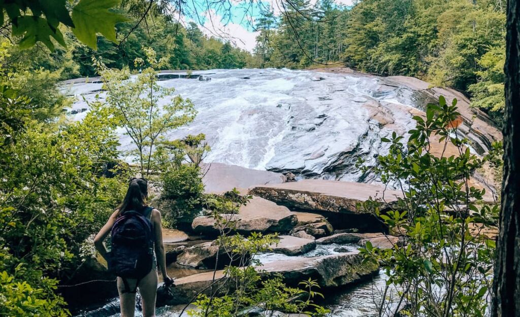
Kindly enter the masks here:
<path id="1" fill-rule="evenodd" d="M 212 194 L 222 194 L 233 188 L 245 189 L 259 184 L 285 182 L 283 174 L 223 163 L 205 164 L 203 173 L 204 191 Z"/>

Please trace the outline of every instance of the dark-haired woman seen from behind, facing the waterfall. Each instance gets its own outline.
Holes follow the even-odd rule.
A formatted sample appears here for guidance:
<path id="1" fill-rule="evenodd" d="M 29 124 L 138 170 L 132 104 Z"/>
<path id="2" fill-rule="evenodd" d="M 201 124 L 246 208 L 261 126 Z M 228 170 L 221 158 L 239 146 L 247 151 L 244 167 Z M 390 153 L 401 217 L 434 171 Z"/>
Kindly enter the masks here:
<path id="1" fill-rule="evenodd" d="M 103 240 L 110 233 L 115 221 L 126 211 L 136 210 L 138 212 L 144 212 L 149 210 L 145 200 L 148 197 L 148 183 L 144 179 L 133 179 L 129 186 L 128 191 L 123 202 L 110 216 L 107 223 L 94 239 L 94 245 L 103 258 L 107 261 L 108 252 L 103 244 Z M 172 283 L 173 280 L 168 276 L 166 272 L 166 257 L 164 254 L 164 245 L 162 240 L 161 231 L 161 213 L 157 209 L 152 209 L 150 213 L 150 222 L 152 223 L 152 233 L 154 240 L 155 255 L 157 261 L 159 261 L 159 267 L 165 283 Z M 155 260 L 155 256 L 153 257 Z M 139 289 L 139 293 L 142 298 L 142 315 L 143 317 L 154 317 L 155 316 L 155 296 L 157 294 L 157 263 L 153 263 L 151 271 L 141 280 L 126 279 L 128 285 L 125 287 L 122 278 L 118 277 L 118 291 L 119 299 L 121 302 L 121 317 L 133 317 L 135 313 L 135 293 L 127 292 L 128 287 L 131 289 Z M 138 285 L 136 285 L 138 283 Z M 125 290 L 126 289 L 126 290 Z"/>

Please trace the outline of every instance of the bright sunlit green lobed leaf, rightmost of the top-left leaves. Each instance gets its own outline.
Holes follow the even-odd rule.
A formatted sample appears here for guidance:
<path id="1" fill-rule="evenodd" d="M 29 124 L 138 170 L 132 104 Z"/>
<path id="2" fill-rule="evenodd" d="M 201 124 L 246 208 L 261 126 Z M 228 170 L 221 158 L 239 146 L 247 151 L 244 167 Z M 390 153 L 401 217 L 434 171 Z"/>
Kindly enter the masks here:
<path id="1" fill-rule="evenodd" d="M 109 11 L 118 3 L 119 0 L 81 0 L 72 9 L 72 32 L 77 39 L 90 48 L 97 49 L 96 33 L 101 33 L 115 43 L 115 24 L 128 20 Z"/>

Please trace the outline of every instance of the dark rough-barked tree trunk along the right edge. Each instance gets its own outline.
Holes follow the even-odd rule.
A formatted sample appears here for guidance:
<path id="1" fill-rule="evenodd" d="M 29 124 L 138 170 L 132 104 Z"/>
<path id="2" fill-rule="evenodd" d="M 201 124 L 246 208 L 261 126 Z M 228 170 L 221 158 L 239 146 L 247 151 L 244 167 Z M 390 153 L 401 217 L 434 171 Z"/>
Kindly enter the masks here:
<path id="1" fill-rule="evenodd" d="M 508 1 L 504 180 L 493 284 L 493 317 L 520 316 L 520 0 Z"/>

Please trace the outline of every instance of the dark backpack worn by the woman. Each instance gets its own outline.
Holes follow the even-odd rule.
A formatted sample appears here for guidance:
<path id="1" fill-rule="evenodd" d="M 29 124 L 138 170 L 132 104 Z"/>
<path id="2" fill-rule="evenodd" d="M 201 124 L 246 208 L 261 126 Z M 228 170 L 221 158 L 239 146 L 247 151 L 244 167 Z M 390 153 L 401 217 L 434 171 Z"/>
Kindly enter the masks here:
<path id="1" fill-rule="evenodd" d="M 109 270 L 122 278 L 123 293 L 136 293 L 139 281 L 152 269 L 152 210 L 153 207 L 146 207 L 142 212 L 126 210 L 112 226 Z M 133 292 L 130 292 L 126 279 L 137 280 Z"/>

